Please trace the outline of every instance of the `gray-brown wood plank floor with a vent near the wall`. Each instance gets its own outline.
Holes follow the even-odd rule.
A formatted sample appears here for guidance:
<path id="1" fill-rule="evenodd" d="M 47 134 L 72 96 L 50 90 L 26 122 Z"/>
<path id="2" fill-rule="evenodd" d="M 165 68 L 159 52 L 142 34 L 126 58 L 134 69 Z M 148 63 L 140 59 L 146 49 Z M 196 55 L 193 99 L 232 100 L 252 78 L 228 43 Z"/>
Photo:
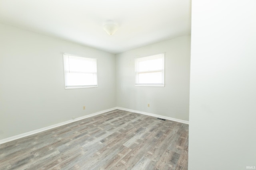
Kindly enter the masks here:
<path id="1" fill-rule="evenodd" d="M 187 170 L 188 125 L 109 111 L 0 147 L 0 170 Z"/>

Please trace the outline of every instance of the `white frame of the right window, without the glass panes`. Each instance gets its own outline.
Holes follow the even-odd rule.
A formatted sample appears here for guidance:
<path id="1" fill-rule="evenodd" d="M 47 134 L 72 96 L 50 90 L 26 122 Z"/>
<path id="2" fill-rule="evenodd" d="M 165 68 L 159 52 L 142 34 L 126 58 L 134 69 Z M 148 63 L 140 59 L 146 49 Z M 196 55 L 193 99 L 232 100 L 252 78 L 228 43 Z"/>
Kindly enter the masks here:
<path id="1" fill-rule="evenodd" d="M 140 61 L 146 61 L 146 60 L 150 60 L 152 58 L 162 58 L 162 66 L 163 68 L 160 70 L 148 70 L 148 71 L 138 71 L 138 62 Z M 165 74 L 164 74 L 164 66 L 165 66 L 165 54 L 164 53 L 160 53 L 160 54 L 156 54 L 156 55 L 150 55 L 147 57 L 140 57 L 140 58 L 135 58 L 135 86 L 145 86 L 145 87 L 164 87 L 165 86 Z M 143 74 L 143 73 L 153 73 L 153 72 L 162 72 L 162 83 L 138 83 L 139 80 L 139 74 Z"/>

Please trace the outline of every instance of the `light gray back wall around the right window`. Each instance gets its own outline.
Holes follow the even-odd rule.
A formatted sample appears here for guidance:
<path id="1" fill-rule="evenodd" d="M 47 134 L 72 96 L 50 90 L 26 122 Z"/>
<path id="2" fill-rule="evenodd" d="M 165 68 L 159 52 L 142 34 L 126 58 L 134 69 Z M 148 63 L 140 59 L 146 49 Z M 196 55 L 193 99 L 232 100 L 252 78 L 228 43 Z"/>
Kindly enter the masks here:
<path id="1" fill-rule="evenodd" d="M 134 58 L 163 52 L 165 87 L 135 87 Z M 117 106 L 188 121 L 189 78 L 190 36 L 120 53 L 116 55 Z"/>

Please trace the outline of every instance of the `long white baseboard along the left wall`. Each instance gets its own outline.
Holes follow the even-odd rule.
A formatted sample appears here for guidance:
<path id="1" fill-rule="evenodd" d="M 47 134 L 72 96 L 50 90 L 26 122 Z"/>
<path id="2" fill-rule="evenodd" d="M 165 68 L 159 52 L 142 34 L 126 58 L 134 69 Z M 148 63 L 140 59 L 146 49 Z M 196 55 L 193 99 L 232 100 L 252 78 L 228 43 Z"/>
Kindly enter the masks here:
<path id="1" fill-rule="evenodd" d="M 36 129 L 34 131 L 30 131 L 30 132 L 26 132 L 26 133 L 22 133 L 20 135 L 15 135 L 15 136 L 12 136 L 12 137 L 8 137 L 6 139 L 2 139 L 0 140 L 0 144 L 3 144 L 3 143 L 6 143 L 6 142 L 10 142 L 10 141 L 14 141 L 16 139 L 20 139 L 22 137 L 26 137 L 26 136 L 29 136 L 29 135 L 34 135 L 36 133 L 39 133 L 39 132 L 42 132 L 42 131 L 46 131 L 46 130 L 49 130 L 49 129 L 53 129 L 55 127 L 59 127 L 59 126 L 62 126 L 62 125 L 66 125 L 68 123 L 72 123 L 72 122 L 75 122 L 75 121 L 79 121 L 79 120 L 82 120 L 82 119 L 85 119 L 85 118 L 88 118 L 88 117 L 92 117 L 92 116 L 95 116 L 95 115 L 99 115 L 99 114 L 102 114 L 102 113 L 106 113 L 108 111 L 112 111 L 112 110 L 115 110 L 117 109 L 117 107 L 113 107 L 111 109 L 106 109 L 106 110 L 103 110 L 103 111 L 99 111 L 99 112 L 96 112 L 96 113 L 92 113 L 90 115 L 85 115 L 85 116 L 82 116 L 82 117 L 78 117 L 76 119 L 72 119 L 72 120 L 68 120 L 68 121 L 64 121 L 62 123 L 57 123 L 55 125 L 51 125 L 51 126 L 48 126 L 48 127 L 43 127 L 41 129 Z"/>

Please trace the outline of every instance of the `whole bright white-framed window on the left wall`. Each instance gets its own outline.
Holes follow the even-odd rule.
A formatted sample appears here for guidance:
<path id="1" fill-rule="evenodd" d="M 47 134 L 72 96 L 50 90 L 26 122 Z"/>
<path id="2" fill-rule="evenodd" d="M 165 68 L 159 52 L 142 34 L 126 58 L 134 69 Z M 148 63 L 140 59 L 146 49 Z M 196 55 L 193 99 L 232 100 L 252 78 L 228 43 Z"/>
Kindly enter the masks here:
<path id="1" fill-rule="evenodd" d="M 98 87 L 97 59 L 64 54 L 65 89 Z"/>

